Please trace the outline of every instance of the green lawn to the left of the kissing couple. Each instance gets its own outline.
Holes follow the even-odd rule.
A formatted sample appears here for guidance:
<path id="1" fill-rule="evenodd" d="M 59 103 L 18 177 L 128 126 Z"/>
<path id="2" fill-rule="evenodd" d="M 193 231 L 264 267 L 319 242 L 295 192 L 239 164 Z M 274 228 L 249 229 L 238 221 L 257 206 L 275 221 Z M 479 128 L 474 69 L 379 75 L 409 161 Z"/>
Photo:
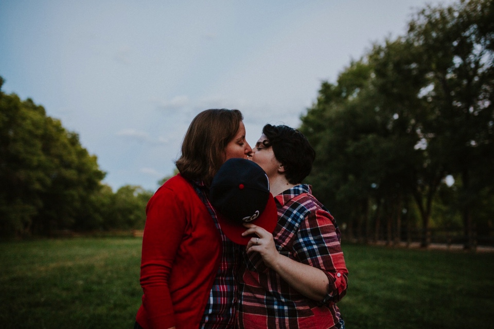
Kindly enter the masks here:
<path id="1" fill-rule="evenodd" d="M 0 327 L 133 328 L 140 305 L 136 238 L 0 244 Z"/>

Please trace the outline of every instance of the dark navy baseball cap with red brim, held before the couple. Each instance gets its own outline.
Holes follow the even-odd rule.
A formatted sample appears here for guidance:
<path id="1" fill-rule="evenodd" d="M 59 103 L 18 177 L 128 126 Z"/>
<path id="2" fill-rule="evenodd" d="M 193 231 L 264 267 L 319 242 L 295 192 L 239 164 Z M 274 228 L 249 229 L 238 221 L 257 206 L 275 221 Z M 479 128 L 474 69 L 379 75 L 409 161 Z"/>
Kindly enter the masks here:
<path id="1" fill-rule="evenodd" d="M 268 176 L 257 163 L 228 159 L 216 173 L 209 199 L 218 211 L 221 229 L 233 242 L 246 245 L 252 236 L 242 236 L 243 223 L 253 223 L 272 233 L 278 220 Z"/>

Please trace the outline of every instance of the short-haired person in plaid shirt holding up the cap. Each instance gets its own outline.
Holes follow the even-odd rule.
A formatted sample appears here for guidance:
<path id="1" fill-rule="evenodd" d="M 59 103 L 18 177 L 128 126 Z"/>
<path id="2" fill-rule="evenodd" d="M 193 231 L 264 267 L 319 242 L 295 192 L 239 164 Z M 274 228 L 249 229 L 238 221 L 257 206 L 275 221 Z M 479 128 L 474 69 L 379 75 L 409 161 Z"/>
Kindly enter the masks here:
<path id="1" fill-rule="evenodd" d="M 267 124 L 252 160 L 268 175 L 278 208 L 270 233 L 244 224 L 240 272 L 240 328 L 344 328 L 336 303 L 346 294 L 348 270 L 333 216 L 302 184 L 315 152 L 286 125 Z"/>

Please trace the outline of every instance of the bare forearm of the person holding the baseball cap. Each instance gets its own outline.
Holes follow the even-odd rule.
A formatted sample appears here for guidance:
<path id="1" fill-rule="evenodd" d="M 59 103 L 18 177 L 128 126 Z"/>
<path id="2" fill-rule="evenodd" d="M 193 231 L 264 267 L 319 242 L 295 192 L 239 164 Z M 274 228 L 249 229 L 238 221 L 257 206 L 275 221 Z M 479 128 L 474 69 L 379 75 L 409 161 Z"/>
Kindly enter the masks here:
<path id="1" fill-rule="evenodd" d="M 281 254 L 278 254 L 272 264 L 266 265 L 276 271 L 293 289 L 309 299 L 320 302 L 328 293 L 328 277 L 319 268 L 299 263 Z"/>

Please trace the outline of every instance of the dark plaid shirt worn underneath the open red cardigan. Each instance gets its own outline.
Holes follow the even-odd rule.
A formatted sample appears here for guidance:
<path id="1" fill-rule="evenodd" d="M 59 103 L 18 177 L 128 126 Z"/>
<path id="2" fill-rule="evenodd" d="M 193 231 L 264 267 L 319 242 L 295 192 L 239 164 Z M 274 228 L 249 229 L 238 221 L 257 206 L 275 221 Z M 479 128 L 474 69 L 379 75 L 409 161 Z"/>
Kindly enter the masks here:
<path id="1" fill-rule="evenodd" d="M 193 187 L 213 217 L 216 227 L 220 231 L 223 252 L 220 267 L 216 275 L 213 287 L 209 293 L 209 299 L 204 310 L 200 329 L 228 329 L 235 328 L 237 322 L 238 291 L 238 267 L 240 247 L 233 243 L 221 230 L 216 212 L 209 202 L 209 190 L 202 181 L 193 181 Z"/>

